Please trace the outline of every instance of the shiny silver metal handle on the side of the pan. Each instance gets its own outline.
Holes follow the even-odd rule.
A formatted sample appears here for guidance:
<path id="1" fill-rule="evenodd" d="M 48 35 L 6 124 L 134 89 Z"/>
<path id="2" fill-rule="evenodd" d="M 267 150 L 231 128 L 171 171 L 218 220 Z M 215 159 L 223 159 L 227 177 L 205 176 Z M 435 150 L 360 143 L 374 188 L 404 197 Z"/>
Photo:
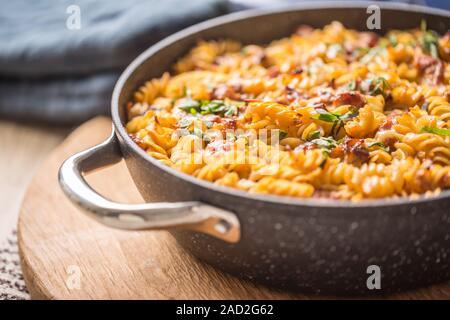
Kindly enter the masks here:
<path id="1" fill-rule="evenodd" d="M 122 159 L 114 133 L 103 143 L 81 151 L 62 164 L 59 184 L 64 193 L 85 213 L 114 228 L 127 230 L 185 228 L 238 242 L 240 224 L 234 213 L 199 201 L 122 204 L 94 191 L 83 174 Z"/>

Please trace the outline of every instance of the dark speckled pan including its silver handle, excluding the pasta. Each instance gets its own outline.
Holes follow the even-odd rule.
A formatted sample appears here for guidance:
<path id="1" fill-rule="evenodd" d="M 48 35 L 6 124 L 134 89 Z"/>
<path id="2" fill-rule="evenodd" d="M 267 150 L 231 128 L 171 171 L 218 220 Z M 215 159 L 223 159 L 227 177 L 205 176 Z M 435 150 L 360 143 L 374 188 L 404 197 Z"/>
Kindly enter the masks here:
<path id="1" fill-rule="evenodd" d="M 373 4 L 373 3 L 371 3 Z M 111 101 L 113 133 L 61 166 L 66 195 L 115 228 L 166 229 L 178 243 L 221 270 L 269 286 L 326 294 L 392 292 L 450 279 L 450 191 L 433 198 L 349 202 L 249 194 L 178 172 L 153 159 L 127 135 L 125 105 L 146 80 L 159 77 L 198 39 L 268 43 L 300 24 L 338 20 L 367 30 L 369 3 L 314 3 L 252 10 L 212 19 L 152 46 L 123 72 Z M 383 33 L 415 28 L 439 33 L 448 11 L 378 3 Z M 83 175 L 125 159 L 145 204 L 120 204 L 91 189 Z M 111 182 L 113 183 L 113 181 Z M 126 190 L 126 186 L 123 186 Z M 379 285 L 368 286 L 368 283 Z"/>

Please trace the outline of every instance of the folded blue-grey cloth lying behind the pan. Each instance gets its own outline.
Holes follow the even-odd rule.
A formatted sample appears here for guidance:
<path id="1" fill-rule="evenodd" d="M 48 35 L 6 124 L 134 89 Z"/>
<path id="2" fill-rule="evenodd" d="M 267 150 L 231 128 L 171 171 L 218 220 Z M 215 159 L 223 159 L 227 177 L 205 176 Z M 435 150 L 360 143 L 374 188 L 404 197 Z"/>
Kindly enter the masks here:
<path id="1" fill-rule="evenodd" d="M 226 13 L 225 0 L 0 1 L 0 117 L 80 122 L 145 48 Z"/>

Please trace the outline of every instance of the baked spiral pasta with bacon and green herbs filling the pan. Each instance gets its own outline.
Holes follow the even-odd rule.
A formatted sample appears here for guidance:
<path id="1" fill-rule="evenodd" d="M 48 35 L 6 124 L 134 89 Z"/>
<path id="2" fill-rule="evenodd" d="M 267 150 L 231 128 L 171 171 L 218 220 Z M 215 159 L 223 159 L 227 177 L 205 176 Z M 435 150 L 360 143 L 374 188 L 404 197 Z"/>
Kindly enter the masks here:
<path id="1" fill-rule="evenodd" d="M 126 129 L 162 163 L 252 193 L 360 200 L 450 187 L 450 32 L 332 22 L 268 45 L 199 41 Z"/>

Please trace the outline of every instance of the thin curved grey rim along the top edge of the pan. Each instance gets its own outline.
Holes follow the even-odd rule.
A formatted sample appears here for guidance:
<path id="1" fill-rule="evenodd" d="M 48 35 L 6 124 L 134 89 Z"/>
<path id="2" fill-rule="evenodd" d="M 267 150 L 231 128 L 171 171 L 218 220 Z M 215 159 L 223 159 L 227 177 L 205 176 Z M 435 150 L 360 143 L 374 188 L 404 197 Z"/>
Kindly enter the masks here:
<path id="1" fill-rule="evenodd" d="M 277 6 L 276 8 L 266 8 L 266 9 L 250 9 L 240 12 L 230 13 L 227 15 L 219 16 L 213 19 L 209 19 L 198 24 L 192 25 L 181 31 L 178 31 L 167 38 L 162 39 L 156 44 L 152 45 L 141 54 L 139 54 L 122 72 L 113 90 L 111 99 L 111 116 L 114 124 L 114 132 L 119 135 L 122 141 L 133 150 L 133 152 L 139 155 L 143 160 L 150 163 L 150 165 L 158 167 L 167 174 L 173 175 L 178 179 L 182 179 L 188 183 L 192 183 L 198 187 L 205 188 L 218 193 L 225 193 L 230 196 L 243 198 L 245 200 L 265 202 L 268 204 L 283 204 L 293 207 L 315 207 L 315 208 L 340 208 L 340 209 L 350 209 L 350 208 L 374 208 L 374 207 L 392 207 L 392 206 L 403 206 L 403 205 L 419 205 L 423 203 L 431 203 L 439 200 L 444 200 L 450 198 L 450 189 L 443 190 L 438 195 L 431 197 L 426 197 L 424 195 L 419 196 L 415 199 L 410 199 L 408 197 L 399 198 L 380 198 L 380 199 L 364 199 L 358 202 L 351 200 L 338 200 L 331 198 L 295 198 L 289 196 L 277 196 L 277 195 L 267 195 L 267 194 L 252 194 L 246 191 L 231 187 L 218 186 L 212 182 L 201 180 L 199 178 L 193 177 L 186 173 L 177 171 L 158 160 L 154 159 L 148 155 L 144 150 L 139 148 L 128 136 L 125 126 L 122 124 L 119 115 L 119 97 L 121 96 L 123 87 L 127 82 L 128 78 L 136 72 L 139 67 L 152 55 L 163 50 L 165 47 L 200 31 L 217 27 L 226 23 L 233 23 L 240 20 L 245 20 L 253 17 L 259 17 L 264 15 L 271 15 L 277 13 L 288 13 L 293 11 L 301 10 L 313 10 L 313 9 L 362 9 L 367 8 L 369 5 L 377 5 L 381 9 L 392 9 L 405 12 L 419 12 L 438 15 L 446 18 L 450 18 L 450 11 L 428 8 L 418 5 L 408 5 L 404 3 L 381 3 L 373 1 L 357 1 L 350 3 L 337 3 L 329 1 L 318 1 L 306 4 L 294 4 L 294 5 L 283 5 Z M 195 199 L 194 199 L 195 200 Z"/>

